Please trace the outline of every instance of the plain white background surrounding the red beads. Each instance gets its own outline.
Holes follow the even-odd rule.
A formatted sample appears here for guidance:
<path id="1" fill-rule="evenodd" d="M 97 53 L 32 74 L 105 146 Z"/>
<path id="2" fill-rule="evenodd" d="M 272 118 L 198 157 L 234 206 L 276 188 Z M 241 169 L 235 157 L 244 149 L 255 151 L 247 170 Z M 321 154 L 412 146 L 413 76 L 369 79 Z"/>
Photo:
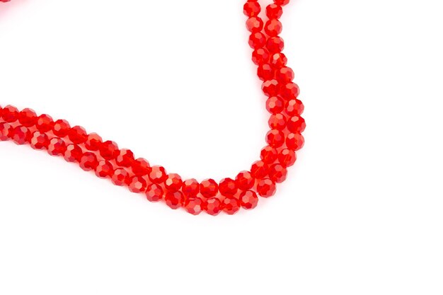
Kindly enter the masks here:
<path id="1" fill-rule="evenodd" d="M 2 4 L 0 104 L 66 118 L 184 177 L 233 177 L 267 129 L 242 6 Z M 442 11 L 285 8 L 306 145 L 251 212 L 173 212 L 1 143 L 0 294 L 443 294 Z"/>

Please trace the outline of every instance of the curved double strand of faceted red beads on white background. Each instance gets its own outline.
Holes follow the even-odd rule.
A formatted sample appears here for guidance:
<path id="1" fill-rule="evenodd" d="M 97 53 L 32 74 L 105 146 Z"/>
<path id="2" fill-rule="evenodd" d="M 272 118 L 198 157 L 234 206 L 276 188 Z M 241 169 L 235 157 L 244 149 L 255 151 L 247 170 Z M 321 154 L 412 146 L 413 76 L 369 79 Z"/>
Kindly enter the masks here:
<path id="1" fill-rule="evenodd" d="M 9 0 L 0 0 L 8 2 Z M 252 59 L 258 66 L 258 78 L 263 80 L 263 93 L 268 97 L 266 108 L 271 113 L 267 146 L 248 171 L 241 171 L 235 179 L 224 178 L 198 182 L 182 180 L 176 173 L 166 173 L 162 166 L 151 166 L 144 158 L 134 158 L 129 149 L 119 149 L 114 141 L 103 141 L 96 134 L 88 134 L 83 127 L 71 127 L 66 120 L 52 120 L 49 115 L 36 115 L 33 110 L 18 110 L 12 105 L 0 106 L 0 141 L 12 139 L 16 144 L 30 144 L 33 149 L 46 150 L 52 156 L 79 163 L 86 171 L 94 171 L 99 178 L 110 178 L 115 185 L 127 186 L 131 192 L 143 193 L 151 202 L 163 200 L 172 209 L 183 207 L 190 214 L 234 214 L 243 207 L 253 209 L 257 194 L 271 197 L 276 183 L 287 177 L 287 168 L 294 165 L 295 151 L 301 149 L 301 132 L 306 124 L 300 117 L 304 106 L 299 87 L 293 83 L 294 71 L 282 53 L 282 6 L 289 0 L 274 0 L 266 7 L 268 20 L 258 16 L 258 0 L 248 0 L 243 12 L 248 16 L 246 28 L 251 32 L 249 45 Z"/>

